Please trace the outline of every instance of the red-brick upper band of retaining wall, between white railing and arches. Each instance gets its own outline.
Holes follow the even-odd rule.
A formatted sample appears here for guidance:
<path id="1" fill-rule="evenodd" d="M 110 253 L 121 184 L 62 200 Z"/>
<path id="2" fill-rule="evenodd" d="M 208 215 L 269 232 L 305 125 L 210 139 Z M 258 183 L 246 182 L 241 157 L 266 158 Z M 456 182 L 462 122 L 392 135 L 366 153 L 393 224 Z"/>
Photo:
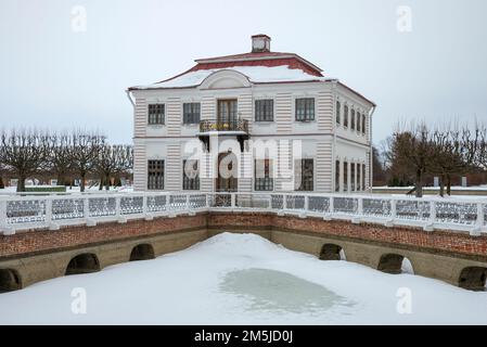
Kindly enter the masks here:
<path id="1" fill-rule="evenodd" d="M 115 240 L 151 234 L 214 229 L 277 229 L 294 232 L 315 232 L 362 242 L 380 242 L 397 247 L 449 252 L 487 258 L 487 236 L 471 236 L 448 231 L 425 232 L 413 228 L 386 228 L 376 224 L 354 224 L 346 221 L 325 221 L 319 218 L 277 216 L 258 213 L 209 213 L 152 221 L 129 220 L 127 223 L 100 223 L 95 227 L 65 227 L 59 231 L 28 231 L 0 236 L 0 259 L 16 255 L 65 249 L 81 245 L 107 243 Z"/>

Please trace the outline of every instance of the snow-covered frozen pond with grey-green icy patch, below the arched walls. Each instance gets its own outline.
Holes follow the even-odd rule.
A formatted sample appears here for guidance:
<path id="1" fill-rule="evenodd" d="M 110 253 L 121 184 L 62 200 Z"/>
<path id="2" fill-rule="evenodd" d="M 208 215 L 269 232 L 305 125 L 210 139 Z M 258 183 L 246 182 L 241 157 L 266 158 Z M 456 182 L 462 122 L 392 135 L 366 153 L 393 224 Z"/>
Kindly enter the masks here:
<path id="1" fill-rule="evenodd" d="M 487 292 L 223 233 L 154 260 L 0 294 L 0 324 L 17 323 L 487 324 Z"/>

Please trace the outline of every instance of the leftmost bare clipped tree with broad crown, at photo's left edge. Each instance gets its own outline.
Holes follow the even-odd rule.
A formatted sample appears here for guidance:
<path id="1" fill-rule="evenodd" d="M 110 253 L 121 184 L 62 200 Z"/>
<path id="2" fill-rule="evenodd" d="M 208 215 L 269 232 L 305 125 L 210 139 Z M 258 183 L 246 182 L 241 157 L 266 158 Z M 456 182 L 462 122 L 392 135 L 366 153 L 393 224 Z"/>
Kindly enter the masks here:
<path id="1" fill-rule="evenodd" d="M 0 134 L 0 163 L 18 179 L 17 192 L 25 192 L 25 180 L 39 171 L 48 154 L 44 132 L 23 129 Z"/>

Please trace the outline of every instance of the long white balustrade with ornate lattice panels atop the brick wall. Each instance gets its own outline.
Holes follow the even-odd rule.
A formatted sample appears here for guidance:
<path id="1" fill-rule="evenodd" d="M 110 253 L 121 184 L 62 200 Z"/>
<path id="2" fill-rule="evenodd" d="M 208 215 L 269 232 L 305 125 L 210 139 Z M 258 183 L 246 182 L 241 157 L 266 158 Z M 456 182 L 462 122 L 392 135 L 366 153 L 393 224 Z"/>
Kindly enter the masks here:
<path id="1" fill-rule="evenodd" d="M 487 200 L 296 193 L 117 193 L 0 196 L 0 233 L 212 210 L 251 210 L 300 218 L 487 233 Z"/>

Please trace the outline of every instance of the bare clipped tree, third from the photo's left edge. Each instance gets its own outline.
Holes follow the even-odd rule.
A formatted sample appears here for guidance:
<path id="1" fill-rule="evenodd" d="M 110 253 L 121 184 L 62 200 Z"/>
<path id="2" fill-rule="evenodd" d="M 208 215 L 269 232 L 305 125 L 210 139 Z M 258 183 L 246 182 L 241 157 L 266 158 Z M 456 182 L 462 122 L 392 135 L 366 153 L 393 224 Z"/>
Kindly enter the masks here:
<path id="1" fill-rule="evenodd" d="M 80 191 L 85 192 L 87 176 L 95 169 L 99 153 L 105 145 L 105 137 L 77 130 L 72 133 L 72 141 L 74 174 L 80 179 Z"/>

